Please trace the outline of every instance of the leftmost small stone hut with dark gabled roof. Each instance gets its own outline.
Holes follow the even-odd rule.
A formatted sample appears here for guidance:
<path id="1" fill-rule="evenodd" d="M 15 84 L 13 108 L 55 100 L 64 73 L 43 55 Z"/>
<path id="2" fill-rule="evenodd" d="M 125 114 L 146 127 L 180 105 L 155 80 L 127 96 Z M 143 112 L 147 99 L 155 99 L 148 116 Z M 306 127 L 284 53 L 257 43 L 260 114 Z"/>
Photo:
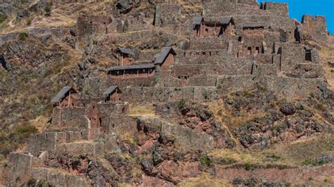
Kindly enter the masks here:
<path id="1" fill-rule="evenodd" d="M 76 98 L 78 98 L 78 92 L 72 86 L 65 86 L 52 98 L 51 104 L 59 108 L 74 107 Z"/>

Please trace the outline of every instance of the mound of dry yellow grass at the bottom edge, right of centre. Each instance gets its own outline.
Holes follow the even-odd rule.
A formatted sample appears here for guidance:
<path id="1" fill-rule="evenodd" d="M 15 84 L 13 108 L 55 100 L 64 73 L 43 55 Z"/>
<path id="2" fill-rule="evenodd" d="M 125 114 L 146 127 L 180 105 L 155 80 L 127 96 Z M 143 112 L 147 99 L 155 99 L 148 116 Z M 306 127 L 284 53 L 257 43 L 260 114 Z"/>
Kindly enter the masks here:
<path id="1" fill-rule="evenodd" d="M 210 186 L 210 187 L 218 187 L 218 186 L 232 186 L 228 180 L 225 179 L 214 179 L 209 174 L 203 173 L 194 178 L 187 178 L 180 183 L 178 186 Z"/>

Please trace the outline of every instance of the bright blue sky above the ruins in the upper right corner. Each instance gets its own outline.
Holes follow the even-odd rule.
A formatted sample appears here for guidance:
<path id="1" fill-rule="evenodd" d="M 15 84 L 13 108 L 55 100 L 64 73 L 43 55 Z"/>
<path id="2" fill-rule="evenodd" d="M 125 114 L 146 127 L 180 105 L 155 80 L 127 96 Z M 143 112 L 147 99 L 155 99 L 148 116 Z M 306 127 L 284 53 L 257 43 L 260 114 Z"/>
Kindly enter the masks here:
<path id="1" fill-rule="evenodd" d="M 287 3 L 290 18 L 302 21 L 302 15 L 325 15 L 327 29 L 334 34 L 334 0 L 257 0 L 261 2 L 273 1 Z"/>

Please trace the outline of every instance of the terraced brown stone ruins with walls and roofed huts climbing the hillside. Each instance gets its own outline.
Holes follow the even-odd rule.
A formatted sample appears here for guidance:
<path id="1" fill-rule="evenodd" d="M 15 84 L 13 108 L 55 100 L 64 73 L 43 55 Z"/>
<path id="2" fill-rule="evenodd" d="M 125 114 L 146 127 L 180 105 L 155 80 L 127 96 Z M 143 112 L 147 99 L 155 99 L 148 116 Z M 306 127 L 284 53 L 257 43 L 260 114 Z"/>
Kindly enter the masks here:
<path id="1" fill-rule="evenodd" d="M 182 18 L 180 10 L 180 4 L 157 4 L 153 24 L 145 18 L 78 18 L 76 38 L 82 47 L 97 35 L 140 40 L 159 32 L 170 36 L 175 27 L 188 40 L 178 46 L 161 43 L 151 52 L 119 45 L 111 57 L 117 65 L 106 70 L 107 76 L 85 80 L 89 96 L 64 87 L 52 100 L 49 131 L 32 135 L 26 152 L 9 155 L 3 176 L 8 186 L 18 177 L 89 186 L 85 176 L 56 171 L 44 161 L 115 150 L 115 137 L 137 128 L 129 103 L 214 101 L 259 85 L 279 96 L 304 98 L 326 85 L 318 50 L 304 43 L 305 32 L 326 39 L 324 17 L 304 15 L 297 22 L 288 18 L 287 4 L 260 6 L 255 0 L 204 0 L 202 15 L 192 18 Z M 135 34 L 125 33 L 130 31 Z"/>

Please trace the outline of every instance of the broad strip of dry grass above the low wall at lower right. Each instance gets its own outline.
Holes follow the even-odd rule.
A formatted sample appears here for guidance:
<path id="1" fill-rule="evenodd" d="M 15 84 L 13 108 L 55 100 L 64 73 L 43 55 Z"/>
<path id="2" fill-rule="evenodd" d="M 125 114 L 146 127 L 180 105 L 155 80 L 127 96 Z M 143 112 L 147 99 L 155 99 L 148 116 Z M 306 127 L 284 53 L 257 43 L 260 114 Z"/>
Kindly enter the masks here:
<path id="1" fill-rule="evenodd" d="M 208 155 L 214 159 L 235 160 L 240 164 L 276 164 L 302 166 L 304 160 L 334 153 L 334 134 L 321 134 L 307 140 L 276 144 L 266 150 L 216 149 Z M 275 156 L 277 159 L 270 159 Z"/>

